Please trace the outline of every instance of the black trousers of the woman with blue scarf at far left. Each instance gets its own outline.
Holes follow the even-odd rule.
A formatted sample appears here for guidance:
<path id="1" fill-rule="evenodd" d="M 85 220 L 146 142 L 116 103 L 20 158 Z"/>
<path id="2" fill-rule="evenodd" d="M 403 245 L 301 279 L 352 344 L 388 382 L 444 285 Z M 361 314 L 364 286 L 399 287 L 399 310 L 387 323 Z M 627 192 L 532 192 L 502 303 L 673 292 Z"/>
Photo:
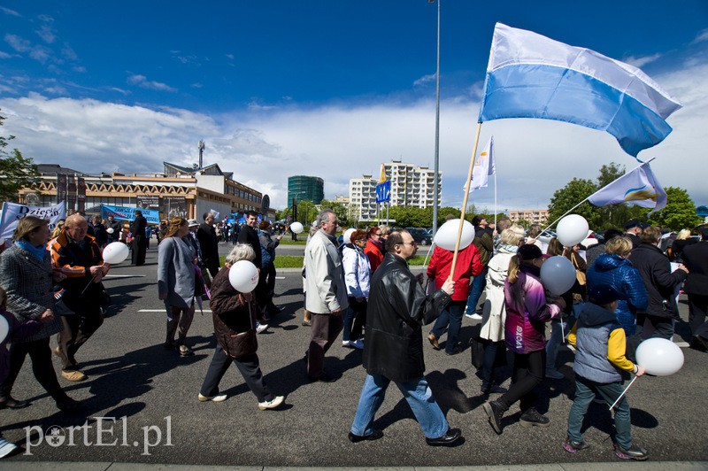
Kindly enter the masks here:
<path id="1" fill-rule="evenodd" d="M 0 383 L 0 397 L 9 398 L 11 396 L 12 386 L 15 384 L 27 355 L 32 360 L 32 372 L 35 374 L 37 382 L 42 384 L 42 388 L 55 401 L 65 400 L 66 394 L 59 386 L 57 373 L 51 363 L 50 337 L 10 344 L 10 371 L 4 382 Z"/>

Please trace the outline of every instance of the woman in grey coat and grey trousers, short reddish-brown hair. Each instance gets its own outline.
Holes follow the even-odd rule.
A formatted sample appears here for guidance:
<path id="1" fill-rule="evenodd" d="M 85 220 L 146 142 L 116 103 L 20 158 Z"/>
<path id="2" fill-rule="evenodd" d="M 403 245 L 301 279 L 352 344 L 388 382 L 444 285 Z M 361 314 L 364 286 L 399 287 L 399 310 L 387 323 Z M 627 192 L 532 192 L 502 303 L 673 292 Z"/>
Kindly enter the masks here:
<path id="1" fill-rule="evenodd" d="M 189 223 L 184 218 L 173 218 L 158 245 L 158 297 L 165 301 L 167 310 L 166 349 L 177 348 L 180 355 L 192 355 L 184 344 L 189 326 L 194 319 L 194 287 L 196 253 L 191 243 L 182 240 L 189 234 Z M 177 334 L 177 341 L 174 335 Z"/>

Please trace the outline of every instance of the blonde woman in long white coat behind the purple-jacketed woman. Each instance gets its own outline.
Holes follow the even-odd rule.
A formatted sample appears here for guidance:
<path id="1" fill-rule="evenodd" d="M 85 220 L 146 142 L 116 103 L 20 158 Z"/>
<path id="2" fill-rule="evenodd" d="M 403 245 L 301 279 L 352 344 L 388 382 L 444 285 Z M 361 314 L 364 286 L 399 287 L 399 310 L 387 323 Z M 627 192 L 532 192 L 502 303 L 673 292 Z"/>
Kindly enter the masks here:
<path id="1" fill-rule="evenodd" d="M 496 255 L 489 260 L 487 271 L 487 286 L 484 290 L 486 299 L 482 308 L 481 338 L 488 341 L 484 349 L 484 365 L 481 373 L 481 392 L 505 392 L 495 384 L 495 364 L 498 355 L 504 355 L 504 322 L 506 321 L 506 306 L 504 305 L 504 280 L 509 270 L 509 261 L 524 243 L 524 228 L 514 224 L 504 229 L 501 235 L 501 245 Z M 500 350 L 501 349 L 501 350 Z"/>

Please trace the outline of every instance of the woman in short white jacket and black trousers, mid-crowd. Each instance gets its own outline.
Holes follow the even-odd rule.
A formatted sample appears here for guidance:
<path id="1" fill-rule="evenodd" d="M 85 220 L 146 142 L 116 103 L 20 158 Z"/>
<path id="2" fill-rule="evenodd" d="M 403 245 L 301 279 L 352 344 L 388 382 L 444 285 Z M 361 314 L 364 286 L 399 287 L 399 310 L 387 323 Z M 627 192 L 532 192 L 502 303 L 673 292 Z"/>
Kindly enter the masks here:
<path id="1" fill-rule="evenodd" d="M 342 345 L 359 350 L 364 348 L 360 337 L 366 322 L 366 300 L 369 297 L 371 279 L 371 265 L 364 253 L 365 246 L 366 231 L 361 229 L 351 233 L 350 243 L 342 245 L 344 282 L 349 297 L 349 309 L 344 315 Z"/>

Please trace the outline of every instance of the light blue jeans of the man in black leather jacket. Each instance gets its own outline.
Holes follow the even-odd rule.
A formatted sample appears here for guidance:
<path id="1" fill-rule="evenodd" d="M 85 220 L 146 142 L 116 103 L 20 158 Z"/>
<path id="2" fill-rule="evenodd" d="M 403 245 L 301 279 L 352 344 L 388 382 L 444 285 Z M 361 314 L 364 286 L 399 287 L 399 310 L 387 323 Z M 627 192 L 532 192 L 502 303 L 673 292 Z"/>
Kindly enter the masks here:
<path id="1" fill-rule="evenodd" d="M 381 374 L 366 374 L 364 388 L 361 390 L 357 414 L 351 424 L 351 433 L 358 436 L 373 433 L 373 416 L 379 410 L 386 396 L 386 389 L 391 380 Z M 425 378 L 409 382 L 396 382 L 413 415 L 427 438 L 439 438 L 450 429 L 445 415 L 433 398 L 433 391 L 427 385 Z"/>

